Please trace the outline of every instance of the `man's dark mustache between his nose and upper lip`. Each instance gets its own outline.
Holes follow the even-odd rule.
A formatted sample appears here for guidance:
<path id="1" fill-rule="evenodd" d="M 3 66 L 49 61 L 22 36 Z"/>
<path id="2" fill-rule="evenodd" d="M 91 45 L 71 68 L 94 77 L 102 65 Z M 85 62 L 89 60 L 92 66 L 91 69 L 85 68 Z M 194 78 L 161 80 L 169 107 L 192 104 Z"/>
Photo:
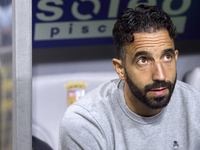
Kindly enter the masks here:
<path id="1" fill-rule="evenodd" d="M 161 88 L 161 87 L 164 87 L 164 88 L 167 88 L 167 89 L 171 89 L 172 87 L 172 83 L 171 82 L 166 82 L 166 81 L 155 81 L 153 84 L 148 84 L 144 87 L 144 91 L 145 92 L 148 92 L 152 89 L 155 89 L 155 88 Z"/>

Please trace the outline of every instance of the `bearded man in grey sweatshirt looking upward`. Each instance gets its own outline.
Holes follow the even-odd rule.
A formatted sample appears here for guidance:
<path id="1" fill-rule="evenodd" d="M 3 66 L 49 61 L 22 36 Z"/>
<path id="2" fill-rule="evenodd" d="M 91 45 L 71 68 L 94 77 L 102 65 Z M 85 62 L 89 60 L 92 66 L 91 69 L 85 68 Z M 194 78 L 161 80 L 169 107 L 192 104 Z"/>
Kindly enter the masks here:
<path id="1" fill-rule="evenodd" d="M 166 13 L 126 9 L 113 29 L 120 79 L 67 109 L 59 149 L 200 149 L 200 94 L 176 79 L 174 38 Z"/>

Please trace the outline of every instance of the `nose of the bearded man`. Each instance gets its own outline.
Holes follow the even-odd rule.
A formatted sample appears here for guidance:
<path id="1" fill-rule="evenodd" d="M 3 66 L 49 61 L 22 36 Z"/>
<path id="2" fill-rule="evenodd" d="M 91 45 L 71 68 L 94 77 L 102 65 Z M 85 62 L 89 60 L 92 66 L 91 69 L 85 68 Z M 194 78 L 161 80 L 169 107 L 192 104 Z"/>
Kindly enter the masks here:
<path id="1" fill-rule="evenodd" d="M 153 67 L 152 79 L 154 81 L 164 81 L 166 78 L 165 70 L 161 63 L 155 63 Z"/>

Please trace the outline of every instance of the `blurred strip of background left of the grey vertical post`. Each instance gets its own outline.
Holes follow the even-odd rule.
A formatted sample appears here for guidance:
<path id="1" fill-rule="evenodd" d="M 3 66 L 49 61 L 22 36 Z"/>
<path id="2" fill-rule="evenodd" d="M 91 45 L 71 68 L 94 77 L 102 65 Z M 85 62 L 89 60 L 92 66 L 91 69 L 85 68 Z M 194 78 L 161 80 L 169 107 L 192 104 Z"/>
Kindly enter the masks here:
<path id="1" fill-rule="evenodd" d="M 0 149 L 12 149 L 12 3 L 0 0 Z"/>

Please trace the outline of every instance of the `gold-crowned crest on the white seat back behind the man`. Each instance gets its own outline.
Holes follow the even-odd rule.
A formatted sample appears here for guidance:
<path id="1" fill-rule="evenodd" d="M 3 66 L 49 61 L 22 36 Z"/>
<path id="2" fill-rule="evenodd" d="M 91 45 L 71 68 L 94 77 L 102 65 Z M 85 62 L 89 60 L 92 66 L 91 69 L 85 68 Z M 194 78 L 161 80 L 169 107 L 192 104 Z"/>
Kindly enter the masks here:
<path id="1" fill-rule="evenodd" d="M 88 83 L 84 83 L 83 81 L 74 81 L 64 84 L 64 86 L 67 88 L 67 106 L 71 105 L 80 97 L 85 95 L 85 87 L 87 85 Z"/>

